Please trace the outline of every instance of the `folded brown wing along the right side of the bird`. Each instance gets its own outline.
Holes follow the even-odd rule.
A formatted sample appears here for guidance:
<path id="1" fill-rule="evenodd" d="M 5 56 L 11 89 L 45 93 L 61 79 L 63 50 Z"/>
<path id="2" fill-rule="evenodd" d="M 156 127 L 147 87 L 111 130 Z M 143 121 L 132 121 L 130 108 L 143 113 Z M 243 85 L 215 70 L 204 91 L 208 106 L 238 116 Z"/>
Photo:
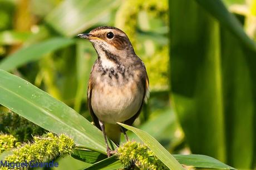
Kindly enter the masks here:
<path id="1" fill-rule="evenodd" d="M 147 98 L 149 97 L 149 78 L 147 77 L 146 70 L 145 70 L 145 75 L 146 75 L 145 78 L 142 78 L 142 84 L 144 86 L 144 95 L 143 95 L 143 101 L 141 102 L 141 105 L 140 105 L 140 109 L 139 111 L 137 111 L 137 113 L 134 116 L 132 116 L 129 120 L 126 120 L 124 122 L 126 125 L 132 125 L 132 123 L 134 123 L 135 119 L 140 115 L 140 111 L 142 109 L 144 101 L 146 102 Z"/>

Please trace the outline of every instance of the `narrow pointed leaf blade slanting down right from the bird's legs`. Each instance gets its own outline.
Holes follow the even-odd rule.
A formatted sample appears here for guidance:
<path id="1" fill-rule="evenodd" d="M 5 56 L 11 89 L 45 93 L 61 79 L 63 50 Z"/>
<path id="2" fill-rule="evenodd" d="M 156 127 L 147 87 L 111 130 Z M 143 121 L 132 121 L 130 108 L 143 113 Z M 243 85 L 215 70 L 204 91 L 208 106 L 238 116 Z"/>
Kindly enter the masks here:
<path id="1" fill-rule="evenodd" d="M 179 162 L 167 150 L 165 150 L 165 148 L 161 146 L 161 144 L 157 142 L 155 138 L 151 137 L 149 133 L 123 123 L 119 123 L 119 125 L 134 132 L 168 168 L 175 170 L 183 169 Z"/>

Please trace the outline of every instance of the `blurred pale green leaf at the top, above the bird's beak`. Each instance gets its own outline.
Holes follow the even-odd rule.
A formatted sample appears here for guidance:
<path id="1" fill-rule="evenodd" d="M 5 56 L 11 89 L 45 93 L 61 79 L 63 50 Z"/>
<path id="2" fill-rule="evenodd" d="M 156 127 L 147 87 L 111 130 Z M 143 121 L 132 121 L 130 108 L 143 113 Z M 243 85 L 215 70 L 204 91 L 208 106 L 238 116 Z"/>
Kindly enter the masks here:
<path id="1" fill-rule="evenodd" d="M 83 32 L 92 25 L 99 23 L 106 16 L 110 9 L 117 7 L 119 0 L 66 0 L 48 14 L 46 22 L 57 32 L 71 37 Z"/>

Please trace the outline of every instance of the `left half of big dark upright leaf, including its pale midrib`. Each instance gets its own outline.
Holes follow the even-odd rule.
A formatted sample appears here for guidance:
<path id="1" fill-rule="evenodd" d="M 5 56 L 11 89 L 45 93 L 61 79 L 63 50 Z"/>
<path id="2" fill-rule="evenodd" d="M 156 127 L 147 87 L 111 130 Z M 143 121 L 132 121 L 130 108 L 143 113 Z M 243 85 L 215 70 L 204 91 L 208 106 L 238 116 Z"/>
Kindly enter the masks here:
<path id="1" fill-rule="evenodd" d="M 176 114 L 192 153 L 225 162 L 218 26 L 194 1 L 170 1 L 170 72 Z"/>

